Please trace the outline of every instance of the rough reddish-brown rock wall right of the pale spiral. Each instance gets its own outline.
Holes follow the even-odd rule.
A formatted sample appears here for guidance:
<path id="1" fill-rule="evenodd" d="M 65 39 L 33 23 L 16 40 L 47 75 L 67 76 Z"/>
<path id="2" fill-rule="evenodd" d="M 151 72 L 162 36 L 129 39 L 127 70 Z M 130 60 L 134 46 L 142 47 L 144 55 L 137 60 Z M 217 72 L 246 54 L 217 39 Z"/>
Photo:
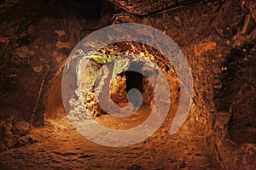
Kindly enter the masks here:
<path id="1" fill-rule="evenodd" d="M 253 1 L 197 3 L 190 5 L 189 11 L 143 19 L 124 14 L 114 21 L 157 27 L 183 49 L 194 76 L 191 128 L 206 137 L 227 169 L 255 167 L 254 6 Z"/>

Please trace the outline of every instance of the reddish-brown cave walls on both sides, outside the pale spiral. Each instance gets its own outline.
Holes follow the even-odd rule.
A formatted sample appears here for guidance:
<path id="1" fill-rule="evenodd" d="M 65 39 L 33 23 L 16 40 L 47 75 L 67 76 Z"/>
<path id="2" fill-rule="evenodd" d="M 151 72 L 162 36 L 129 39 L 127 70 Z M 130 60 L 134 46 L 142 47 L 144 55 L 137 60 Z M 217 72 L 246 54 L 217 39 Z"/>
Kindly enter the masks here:
<path id="1" fill-rule="evenodd" d="M 43 126 L 44 116 L 60 117 L 53 114 L 55 105 L 62 107 L 61 69 L 68 54 L 90 31 L 110 24 L 109 3 L 102 3 L 106 8 L 98 13 L 91 10 L 98 3 L 65 2 L 0 1 L 1 150 L 33 143 L 32 137 L 24 136 L 32 125 Z M 173 1 L 153 1 L 156 6 L 149 1 L 110 2 L 131 13 L 116 15 L 113 23 L 154 26 L 182 48 L 195 90 L 186 123 L 205 139 L 221 166 L 256 167 L 255 2 L 200 1 L 160 13 Z M 96 12 L 97 19 L 84 8 Z"/>

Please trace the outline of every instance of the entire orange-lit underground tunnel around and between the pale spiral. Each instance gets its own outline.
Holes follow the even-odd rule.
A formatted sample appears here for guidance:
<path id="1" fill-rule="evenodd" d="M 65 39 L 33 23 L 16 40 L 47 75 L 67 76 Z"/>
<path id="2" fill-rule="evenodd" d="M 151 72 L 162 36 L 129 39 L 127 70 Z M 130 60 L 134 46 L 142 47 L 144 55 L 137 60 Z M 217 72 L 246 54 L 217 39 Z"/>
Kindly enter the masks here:
<path id="1" fill-rule="evenodd" d="M 0 169 L 254 169 L 255 8 L 253 0 L 0 1 Z M 193 94 L 176 133 L 170 128 L 184 107 L 177 74 L 186 71 L 183 65 L 141 42 L 111 43 L 90 58 L 75 50 L 97 45 L 92 43 L 96 37 L 79 43 L 91 33 L 124 23 L 158 29 L 177 43 L 188 62 Z M 139 33 L 158 40 L 147 31 Z M 79 61 L 69 65 L 70 56 L 87 57 L 86 68 L 79 71 Z M 125 71 L 133 64 L 140 73 Z M 161 72 L 168 88 L 160 88 Z M 141 98 L 130 98 L 132 89 Z M 84 126 L 98 133 L 90 127 L 96 122 L 109 129 L 98 138 L 111 140 L 106 136 L 112 132 L 147 122 L 155 108 L 156 116 L 166 112 L 165 119 L 137 144 L 98 144 L 79 130 Z M 119 117 L 120 111 L 132 114 Z M 76 124 L 81 119 L 87 124 Z M 143 127 L 145 133 L 151 128 Z M 137 131 L 127 139 L 143 135 Z"/>

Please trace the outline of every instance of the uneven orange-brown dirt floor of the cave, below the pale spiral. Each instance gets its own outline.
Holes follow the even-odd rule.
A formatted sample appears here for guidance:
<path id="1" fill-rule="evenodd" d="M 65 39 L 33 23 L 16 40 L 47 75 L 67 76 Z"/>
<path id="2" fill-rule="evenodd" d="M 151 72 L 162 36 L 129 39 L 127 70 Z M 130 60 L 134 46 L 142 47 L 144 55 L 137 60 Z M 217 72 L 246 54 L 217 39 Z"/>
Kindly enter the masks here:
<path id="1" fill-rule="evenodd" d="M 0 168 L 219 169 L 202 137 L 189 130 L 189 122 L 177 133 L 170 135 L 172 109 L 171 106 L 166 122 L 154 135 L 140 144 L 124 148 L 111 148 L 90 142 L 76 131 L 65 116 L 59 120 L 46 120 L 44 127 L 32 129 L 32 144 L 0 153 Z M 147 112 L 148 108 L 139 111 Z M 115 127 L 127 123 L 115 122 L 108 115 L 100 116 L 96 121 L 108 124 L 102 119 L 108 120 Z"/>

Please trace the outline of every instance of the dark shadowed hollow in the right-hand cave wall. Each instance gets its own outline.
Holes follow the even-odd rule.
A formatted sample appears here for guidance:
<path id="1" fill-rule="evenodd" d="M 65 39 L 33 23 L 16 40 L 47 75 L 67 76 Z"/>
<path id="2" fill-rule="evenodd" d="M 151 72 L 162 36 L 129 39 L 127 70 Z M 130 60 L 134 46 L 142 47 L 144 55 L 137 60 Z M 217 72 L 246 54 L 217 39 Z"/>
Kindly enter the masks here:
<path id="1" fill-rule="evenodd" d="M 254 49 L 255 42 L 231 49 L 223 66 L 222 88 L 216 91 L 217 110 L 230 112 L 230 138 L 239 144 L 256 144 Z"/>

